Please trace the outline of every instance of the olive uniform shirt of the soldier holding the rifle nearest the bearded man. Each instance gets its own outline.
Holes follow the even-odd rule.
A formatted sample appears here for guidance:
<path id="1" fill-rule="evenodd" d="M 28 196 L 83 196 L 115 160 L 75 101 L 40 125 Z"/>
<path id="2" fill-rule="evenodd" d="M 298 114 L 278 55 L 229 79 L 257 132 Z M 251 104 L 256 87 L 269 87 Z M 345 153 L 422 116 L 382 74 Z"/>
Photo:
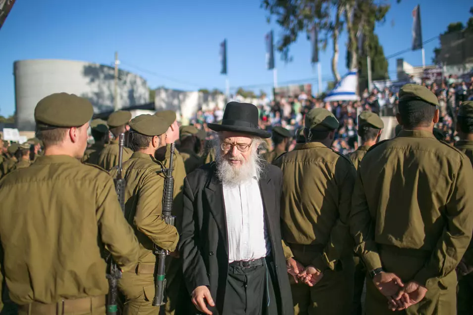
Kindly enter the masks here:
<path id="1" fill-rule="evenodd" d="M 110 171 L 115 178 L 117 168 Z M 174 251 L 179 240 L 177 230 L 161 219 L 164 176 L 151 155 L 134 152 L 123 163 L 125 184 L 125 218 L 140 243 L 140 263 L 155 263 L 153 244 Z"/>

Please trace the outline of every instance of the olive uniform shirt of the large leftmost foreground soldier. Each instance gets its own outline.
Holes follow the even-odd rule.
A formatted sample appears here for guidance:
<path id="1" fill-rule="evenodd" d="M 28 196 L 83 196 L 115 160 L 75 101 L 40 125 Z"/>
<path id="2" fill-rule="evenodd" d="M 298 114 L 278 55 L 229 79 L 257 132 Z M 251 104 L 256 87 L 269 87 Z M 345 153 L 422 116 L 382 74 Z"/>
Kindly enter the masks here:
<path id="1" fill-rule="evenodd" d="M 19 305 L 107 294 L 104 245 L 123 270 L 138 261 L 113 180 L 99 168 L 41 156 L 0 181 L 0 200 L 1 270 Z"/>

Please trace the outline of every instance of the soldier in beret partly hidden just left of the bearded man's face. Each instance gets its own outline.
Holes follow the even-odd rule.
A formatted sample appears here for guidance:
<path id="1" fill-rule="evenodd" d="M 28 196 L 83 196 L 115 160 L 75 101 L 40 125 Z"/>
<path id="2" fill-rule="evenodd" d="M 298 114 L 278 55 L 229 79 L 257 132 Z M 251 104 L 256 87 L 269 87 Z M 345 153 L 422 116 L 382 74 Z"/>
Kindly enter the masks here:
<path id="1" fill-rule="evenodd" d="M 180 153 L 184 160 L 186 174 L 204 164 L 204 160 L 197 154 L 201 150 L 201 141 L 197 137 L 198 134 L 199 130 L 194 126 L 181 126 L 180 128 Z"/>

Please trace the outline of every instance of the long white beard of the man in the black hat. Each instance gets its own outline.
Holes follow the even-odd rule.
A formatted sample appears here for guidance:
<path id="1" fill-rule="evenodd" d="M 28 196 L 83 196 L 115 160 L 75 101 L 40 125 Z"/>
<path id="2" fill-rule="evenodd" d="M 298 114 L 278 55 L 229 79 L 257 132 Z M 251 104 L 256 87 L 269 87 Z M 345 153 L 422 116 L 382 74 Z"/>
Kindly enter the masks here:
<path id="1" fill-rule="evenodd" d="M 222 155 L 219 142 L 218 146 L 215 146 L 215 163 L 217 165 L 218 179 L 227 186 L 237 186 L 245 181 L 251 180 L 253 177 L 256 177 L 256 180 L 260 180 L 263 163 L 265 163 L 265 161 L 263 157 L 257 153 L 257 149 L 257 145 L 251 147 L 251 155 L 248 161 L 244 160 L 241 155 L 238 158 L 230 158 Z M 231 164 L 229 159 L 235 159 L 243 163 L 236 166 Z"/>

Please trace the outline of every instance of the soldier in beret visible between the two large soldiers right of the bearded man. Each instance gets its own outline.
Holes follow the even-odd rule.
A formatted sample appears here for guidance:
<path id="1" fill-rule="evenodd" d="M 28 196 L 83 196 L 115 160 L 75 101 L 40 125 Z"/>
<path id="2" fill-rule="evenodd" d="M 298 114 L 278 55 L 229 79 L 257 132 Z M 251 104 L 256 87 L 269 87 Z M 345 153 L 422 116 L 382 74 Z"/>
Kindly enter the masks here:
<path id="1" fill-rule="evenodd" d="M 373 112 L 364 111 L 358 116 L 358 135 L 362 139 L 362 145 L 355 152 L 347 154 L 355 169 L 358 170 L 358 165 L 368 149 L 378 142 L 383 128 L 383 121 Z"/>

